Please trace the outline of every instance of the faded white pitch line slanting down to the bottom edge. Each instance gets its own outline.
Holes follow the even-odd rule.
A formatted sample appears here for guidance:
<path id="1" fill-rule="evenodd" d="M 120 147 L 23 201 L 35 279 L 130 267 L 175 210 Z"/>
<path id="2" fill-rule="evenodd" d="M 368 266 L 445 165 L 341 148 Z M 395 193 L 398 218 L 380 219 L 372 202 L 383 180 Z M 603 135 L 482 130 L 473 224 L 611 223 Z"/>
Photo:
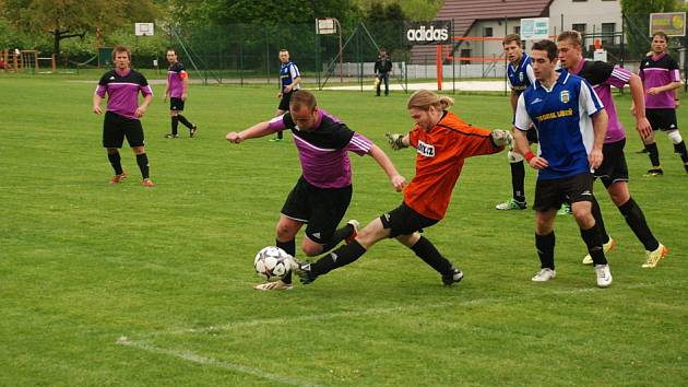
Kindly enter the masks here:
<path id="1" fill-rule="evenodd" d="M 293 385 L 293 386 L 317 386 L 311 383 L 297 380 L 285 375 L 275 374 L 274 372 L 269 372 L 269 371 L 257 368 L 257 367 L 249 367 L 249 366 L 236 364 L 236 363 L 229 363 L 229 362 L 221 361 L 214 357 L 204 356 L 204 355 L 191 352 L 191 351 L 177 351 L 177 350 L 170 350 L 166 348 L 152 345 L 143 341 L 132 341 L 132 340 L 129 340 L 129 338 L 127 337 L 120 337 L 117 340 L 117 344 L 135 348 L 135 349 L 143 350 L 146 352 L 165 354 L 165 355 L 181 359 L 191 363 L 224 368 L 224 370 L 228 370 L 228 371 L 239 373 L 239 374 L 247 374 L 247 375 L 256 376 L 261 379 L 276 382 L 280 384 L 287 384 L 287 385 Z"/>

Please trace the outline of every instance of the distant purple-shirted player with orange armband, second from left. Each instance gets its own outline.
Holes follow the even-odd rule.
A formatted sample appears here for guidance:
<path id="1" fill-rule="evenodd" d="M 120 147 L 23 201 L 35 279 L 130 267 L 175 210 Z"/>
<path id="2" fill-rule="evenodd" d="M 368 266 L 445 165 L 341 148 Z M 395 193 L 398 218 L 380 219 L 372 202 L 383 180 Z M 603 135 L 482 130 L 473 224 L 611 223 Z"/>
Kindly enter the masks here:
<path id="1" fill-rule="evenodd" d="M 169 69 L 167 69 L 167 87 L 165 87 L 163 101 L 167 101 L 167 97 L 169 97 L 171 132 L 165 137 L 168 139 L 178 138 L 177 127 L 179 122 L 189 128 L 189 137 L 193 137 L 199 128 L 194 124 L 189 122 L 189 120 L 181 115 L 188 96 L 189 73 L 187 73 L 183 64 L 177 59 L 177 52 L 174 49 L 168 49 L 166 56 L 169 62 Z"/>

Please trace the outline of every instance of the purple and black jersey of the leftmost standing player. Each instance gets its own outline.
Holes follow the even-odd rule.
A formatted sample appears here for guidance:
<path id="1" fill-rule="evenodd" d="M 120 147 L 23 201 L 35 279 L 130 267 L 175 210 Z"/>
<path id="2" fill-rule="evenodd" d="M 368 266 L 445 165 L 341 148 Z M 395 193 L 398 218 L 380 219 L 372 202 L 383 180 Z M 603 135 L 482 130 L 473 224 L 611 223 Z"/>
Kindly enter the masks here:
<path id="1" fill-rule="evenodd" d="M 139 93 L 143 96 L 153 95 L 153 90 L 145 77 L 135 70 L 129 70 L 126 73 L 110 70 L 100 78 L 95 93 L 100 97 L 108 95 L 108 112 L 139 119 L 135 115 L 139 107 Z"/>

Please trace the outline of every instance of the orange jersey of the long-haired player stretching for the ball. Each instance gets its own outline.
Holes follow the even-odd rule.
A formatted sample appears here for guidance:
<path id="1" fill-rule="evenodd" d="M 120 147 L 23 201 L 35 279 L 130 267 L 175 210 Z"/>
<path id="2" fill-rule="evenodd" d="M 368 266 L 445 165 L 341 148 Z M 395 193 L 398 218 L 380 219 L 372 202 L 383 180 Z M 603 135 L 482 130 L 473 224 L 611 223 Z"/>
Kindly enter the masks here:
<path id="1" fill-rule="evenodd" d="M 497 153 L 490 131 L 472 127 L 452 113 L 429 131 L 416 127 L 410 133 L 416 148 L 416 174 L 404 190 L 404 202 L 419 214 L 444 218 L 464 159 Z"/>

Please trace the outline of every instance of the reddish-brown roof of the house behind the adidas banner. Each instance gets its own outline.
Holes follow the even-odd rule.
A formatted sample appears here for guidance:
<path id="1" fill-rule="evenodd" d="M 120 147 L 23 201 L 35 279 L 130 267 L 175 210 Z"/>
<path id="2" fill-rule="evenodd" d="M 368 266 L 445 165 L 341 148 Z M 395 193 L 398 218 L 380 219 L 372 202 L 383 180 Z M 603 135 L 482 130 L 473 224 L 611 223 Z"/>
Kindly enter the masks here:
<path id="1" fill-rule="evenodd" d="M 475 22 L 548 16 L 554 0 L 444 0 L 435 20 L 453 20 L 454 36 L 466 36 Z M 412 61 L 435 52 L 434 46 L 415 46 Z"/>

